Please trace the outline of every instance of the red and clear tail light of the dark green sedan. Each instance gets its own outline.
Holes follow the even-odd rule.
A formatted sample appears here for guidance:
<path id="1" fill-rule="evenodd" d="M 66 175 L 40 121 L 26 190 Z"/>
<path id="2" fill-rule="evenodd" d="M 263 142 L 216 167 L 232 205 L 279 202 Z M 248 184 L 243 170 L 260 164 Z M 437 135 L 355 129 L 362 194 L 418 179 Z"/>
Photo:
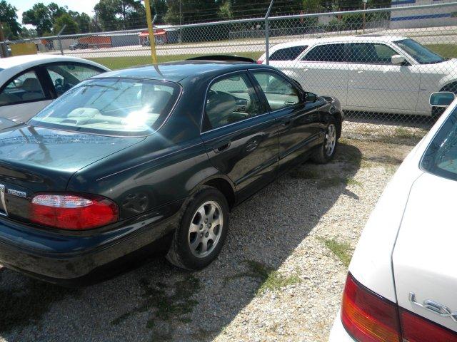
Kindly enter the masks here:
<path id="1" fill-rule="evenodd" d="M 31 222 L 48 227 L 84 230 L 114 223 L 117 205 L 95 195 L 38 194 L 31 200 Z"/>

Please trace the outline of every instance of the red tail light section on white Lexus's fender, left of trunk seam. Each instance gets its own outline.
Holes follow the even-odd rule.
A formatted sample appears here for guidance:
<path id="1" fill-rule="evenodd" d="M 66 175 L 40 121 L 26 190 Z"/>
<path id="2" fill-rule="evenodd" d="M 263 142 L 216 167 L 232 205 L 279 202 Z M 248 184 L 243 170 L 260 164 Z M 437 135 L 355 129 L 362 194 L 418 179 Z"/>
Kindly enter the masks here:
<path id="1" fill-rule="evenodd" d="M 368 290 L 348 274 L 341 304 L 341 321 L 361 342 L 401 342 L 396 304 Z"/>

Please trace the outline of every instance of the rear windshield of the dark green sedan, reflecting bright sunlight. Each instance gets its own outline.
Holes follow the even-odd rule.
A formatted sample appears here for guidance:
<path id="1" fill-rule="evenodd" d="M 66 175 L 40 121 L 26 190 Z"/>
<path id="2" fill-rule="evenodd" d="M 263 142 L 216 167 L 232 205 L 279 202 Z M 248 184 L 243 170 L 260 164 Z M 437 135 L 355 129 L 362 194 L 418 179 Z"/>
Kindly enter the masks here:
<path id="1" fill-rule="evenodd" d="M 164 122 L 179 91 L 176 83 L 94 78 L 67 91 L 29 123 L 86 133 L 146 135 Z"/>

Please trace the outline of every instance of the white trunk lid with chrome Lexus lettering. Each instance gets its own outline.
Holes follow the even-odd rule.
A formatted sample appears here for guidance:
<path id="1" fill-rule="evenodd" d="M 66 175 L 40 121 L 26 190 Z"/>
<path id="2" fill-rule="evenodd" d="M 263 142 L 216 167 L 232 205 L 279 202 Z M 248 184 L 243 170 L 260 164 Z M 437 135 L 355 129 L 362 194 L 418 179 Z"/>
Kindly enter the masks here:
<path id="1" fill-rule="evenodd" d="M 413 301 L 431 300 L 457 311 L 456 193 L 456 181 L 421 175 L 411 188 L 392 256 L 398 305 L 453 331 L 457 323 L 450 316 Z"/>

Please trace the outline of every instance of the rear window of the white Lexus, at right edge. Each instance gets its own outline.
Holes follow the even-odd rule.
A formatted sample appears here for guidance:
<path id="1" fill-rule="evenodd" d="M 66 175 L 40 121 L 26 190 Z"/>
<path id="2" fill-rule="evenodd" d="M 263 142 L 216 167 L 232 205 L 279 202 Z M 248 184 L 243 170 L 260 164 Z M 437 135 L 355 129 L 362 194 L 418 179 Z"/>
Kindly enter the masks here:
<path id="1" fill-rule="evenodd" d="M 421 166 L 435 175 L 457 180 L 457 107 L 428 146 Z"/>

